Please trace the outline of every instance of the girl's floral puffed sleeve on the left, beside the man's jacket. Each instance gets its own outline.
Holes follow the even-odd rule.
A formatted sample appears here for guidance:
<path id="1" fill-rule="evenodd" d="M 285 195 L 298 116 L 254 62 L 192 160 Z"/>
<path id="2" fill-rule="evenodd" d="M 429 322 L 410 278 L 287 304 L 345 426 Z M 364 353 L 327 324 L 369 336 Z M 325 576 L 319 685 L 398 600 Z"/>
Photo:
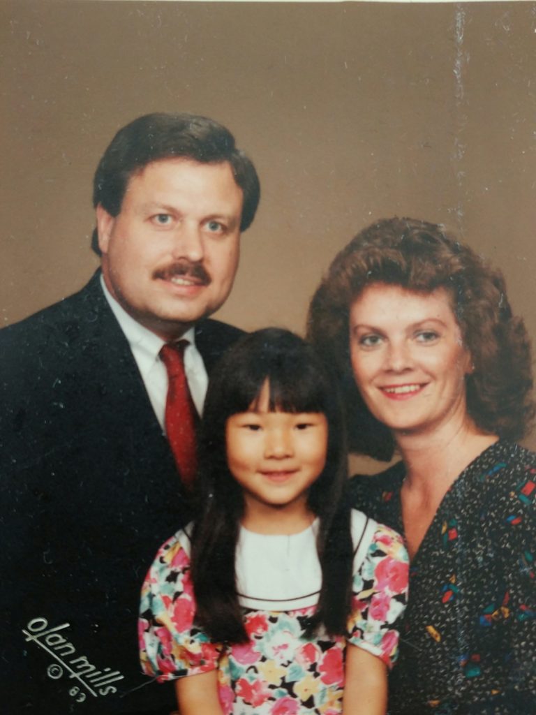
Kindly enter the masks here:
<path id="1" fill-rule="evenodd" d="M 194 590 L 184 538 L 184 532 L 179 532 L 164 543 L 142 586 L 140 661 L 144 673 L 160 682 L 214 670 L 221 651 L 194 625 Z"/>

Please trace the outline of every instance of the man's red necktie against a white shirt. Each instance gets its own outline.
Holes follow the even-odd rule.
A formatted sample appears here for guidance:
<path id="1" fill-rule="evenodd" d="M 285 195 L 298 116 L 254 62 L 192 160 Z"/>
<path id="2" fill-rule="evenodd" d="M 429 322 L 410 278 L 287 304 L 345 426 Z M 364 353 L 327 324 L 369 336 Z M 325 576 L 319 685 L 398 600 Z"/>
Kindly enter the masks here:
<path id="1" fill-rule="evenodd" d="M 187 340 L 169 343 L 160 350 L 166 365 L 168 388 L 166 400 L 166 433 L 183 483 L 191 486 L 196 469 L 196 410 L 184 372 L 184 349 Z"/>

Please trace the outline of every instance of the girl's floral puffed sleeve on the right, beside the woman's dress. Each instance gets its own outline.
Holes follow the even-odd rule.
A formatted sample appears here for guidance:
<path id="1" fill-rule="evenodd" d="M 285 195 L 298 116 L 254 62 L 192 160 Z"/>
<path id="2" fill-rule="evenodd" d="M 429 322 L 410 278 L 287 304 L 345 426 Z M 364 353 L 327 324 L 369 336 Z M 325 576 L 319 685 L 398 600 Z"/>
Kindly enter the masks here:
<path id="1" fill-rule="evenodd" d="M 409 558 L 402 536 L 377 524 L 354 573 L 347 640 L 390 668 L 398 654 L 397 619 L 407 603 Z"/>

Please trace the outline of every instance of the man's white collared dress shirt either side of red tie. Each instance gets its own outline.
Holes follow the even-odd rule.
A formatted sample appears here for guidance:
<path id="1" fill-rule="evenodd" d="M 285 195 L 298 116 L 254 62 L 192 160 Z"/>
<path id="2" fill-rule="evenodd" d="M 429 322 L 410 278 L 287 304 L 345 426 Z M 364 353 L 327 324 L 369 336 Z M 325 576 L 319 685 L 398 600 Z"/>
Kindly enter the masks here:
<path id="1" fill-rule="evenodd" d="M 119 305 L 111 295 L 104 278 L 101 275 L 101 286 L 111 311 L 114 313 L 117 322 L 128 340 L 134 360 L 136 360 L 139 374 L 149 395 L 149 400 L 157 415 L 162 430 L 165 431 L 165 411 L 167 398 L 167 370 L 160 358 L 160 350 L 164 345 L 164 340 L 147 327 L 141 325 L 129 315 L 124 307 Z M 204 366 L 203 358 L 195 346 L 195 331 L 191 327 L 182 335 L 181 340 L 187 340 L 188 345 L 184 350 L 184 371 L 188 380 L 188 387 L 195 408 L 199 415 L 203 412 L 204 398 L 207 394 L 209 378 L 207 369 Z"/>

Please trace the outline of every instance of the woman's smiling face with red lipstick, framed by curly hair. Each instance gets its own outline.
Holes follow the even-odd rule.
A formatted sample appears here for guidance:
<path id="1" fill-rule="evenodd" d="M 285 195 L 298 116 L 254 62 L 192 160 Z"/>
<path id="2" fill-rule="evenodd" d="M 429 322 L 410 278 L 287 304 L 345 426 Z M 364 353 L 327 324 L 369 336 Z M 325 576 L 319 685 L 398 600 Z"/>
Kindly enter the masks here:
<path id="1" fill-rule="evenodd" d="M 471 358 L 444 288 L 373 283 L 352 304 L 349 331 L 359 392 L 395 436 L 463 424 Z"/>

